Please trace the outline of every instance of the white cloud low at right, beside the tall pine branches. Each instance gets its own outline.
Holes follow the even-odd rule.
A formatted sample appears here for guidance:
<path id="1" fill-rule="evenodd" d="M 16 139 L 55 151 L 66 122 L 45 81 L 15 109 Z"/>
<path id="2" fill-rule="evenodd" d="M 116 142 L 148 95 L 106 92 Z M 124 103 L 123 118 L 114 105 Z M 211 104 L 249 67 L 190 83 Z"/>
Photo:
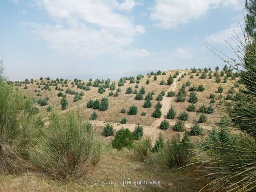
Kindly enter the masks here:
<path id="1" fill-rule="evenodd" d="M 231 42 L 231 38 L 232 38 L 232 34 L 234 34 L 234 32 L 236 32 L 236 34 L 241 38 L 242 35 L 242 29 L 240 26 L 231 26 L 227 29 L 221 30 L 215 34 L 211 34 L 205 37 L 205 42 L 207 43 L 218 43 L 218 44 L 226 44 L 227 40 L 228 42 Z"/>

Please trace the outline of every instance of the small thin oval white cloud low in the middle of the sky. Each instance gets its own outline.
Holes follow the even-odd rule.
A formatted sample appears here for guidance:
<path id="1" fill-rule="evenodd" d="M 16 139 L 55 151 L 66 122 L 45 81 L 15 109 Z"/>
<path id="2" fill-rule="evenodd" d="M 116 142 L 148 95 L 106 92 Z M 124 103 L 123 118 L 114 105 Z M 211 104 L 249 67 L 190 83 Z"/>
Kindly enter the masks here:
<path id="1" fill-rule="evenodd" d="M 149 52 L 147 50 L 136 48 L 134 50 L 123 51 L 118 55 L 116 55 L 116 58 L 126 60 L 126 59 L 146 57 L 148 55 L 149 55 Z"/>

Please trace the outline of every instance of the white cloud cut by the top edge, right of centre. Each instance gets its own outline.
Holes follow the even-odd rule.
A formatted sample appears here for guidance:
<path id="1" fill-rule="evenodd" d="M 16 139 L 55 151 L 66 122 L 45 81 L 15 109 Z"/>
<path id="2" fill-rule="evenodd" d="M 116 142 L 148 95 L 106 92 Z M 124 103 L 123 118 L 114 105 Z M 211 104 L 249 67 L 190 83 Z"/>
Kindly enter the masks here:
<path id="1" fill-rule="evenodd" d="M 150 18 L 156 22 L 154 26 L 159 28 L 176 28 L 179 24 L 195 20 L 218 6 L 242 9 L 240 0 L 155 0 Z"/>

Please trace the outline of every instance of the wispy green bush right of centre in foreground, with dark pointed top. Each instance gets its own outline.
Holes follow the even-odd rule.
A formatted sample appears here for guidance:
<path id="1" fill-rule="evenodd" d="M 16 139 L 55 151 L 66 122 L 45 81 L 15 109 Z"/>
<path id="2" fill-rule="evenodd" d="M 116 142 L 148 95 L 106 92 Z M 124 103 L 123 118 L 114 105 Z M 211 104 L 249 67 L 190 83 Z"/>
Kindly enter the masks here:
<path id="1" fill-rule="evenodd" d="M 193 145 L 186 132 L 181 141 L 179 136 L 173 136 L 162 149 L 162 159 L 168 168 L 182 167 L 189 164 L 192 158 L 191 149 Z"/>

